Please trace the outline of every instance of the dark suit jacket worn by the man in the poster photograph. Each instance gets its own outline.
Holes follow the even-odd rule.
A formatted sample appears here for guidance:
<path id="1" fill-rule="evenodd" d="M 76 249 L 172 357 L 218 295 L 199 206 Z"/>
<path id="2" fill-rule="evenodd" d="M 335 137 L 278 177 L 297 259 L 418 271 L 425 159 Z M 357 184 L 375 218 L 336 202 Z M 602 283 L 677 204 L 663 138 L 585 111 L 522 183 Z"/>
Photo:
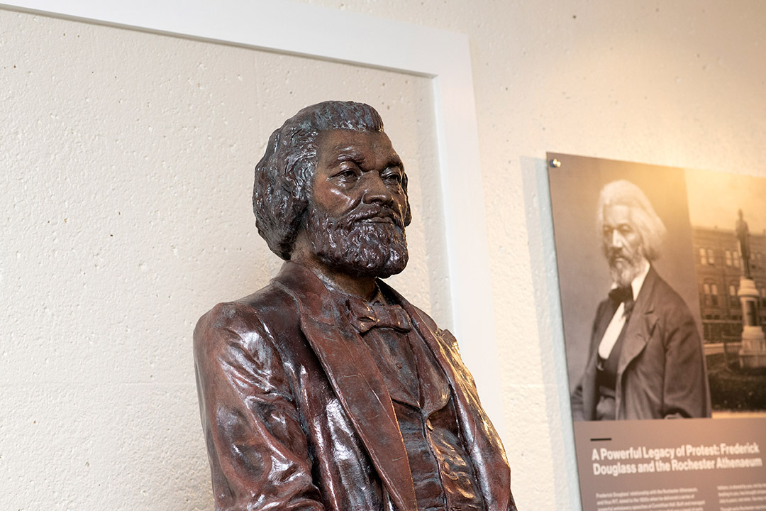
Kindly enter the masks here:
<path id="1" fill-rule="evenodd" d="M 598 306 L 588 364 L 571 397 L 575 421 L 596 418 L 596 359 L 611 311 L 608 299 Z M 617 362 L 617 420 L 710 417 L 705 355 L 696 323 L 683 298 L 653 267 L 625 328 Z"/>

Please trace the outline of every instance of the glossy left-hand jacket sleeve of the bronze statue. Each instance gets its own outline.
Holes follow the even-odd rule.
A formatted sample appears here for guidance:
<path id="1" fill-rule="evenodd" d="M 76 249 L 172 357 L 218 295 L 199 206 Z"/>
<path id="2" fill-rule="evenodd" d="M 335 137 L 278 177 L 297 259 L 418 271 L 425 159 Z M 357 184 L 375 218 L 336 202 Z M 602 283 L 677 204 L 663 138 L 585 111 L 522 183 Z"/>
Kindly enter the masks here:
<path id="1" fill-rule="evenodd" d="M 221 304 L 195 329 L 216 511 L 324 509 L 282 359 L 253 310 Z"/>

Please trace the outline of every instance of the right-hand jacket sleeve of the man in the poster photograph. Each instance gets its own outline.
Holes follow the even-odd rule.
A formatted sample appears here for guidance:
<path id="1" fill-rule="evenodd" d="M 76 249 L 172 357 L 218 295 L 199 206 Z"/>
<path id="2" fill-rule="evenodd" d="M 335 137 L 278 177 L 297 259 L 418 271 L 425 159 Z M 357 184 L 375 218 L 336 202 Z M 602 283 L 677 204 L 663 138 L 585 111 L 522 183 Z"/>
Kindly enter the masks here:
<path id="1" fill-rule="evenodd" d="M 702 342 L 691 313 L 678 306 L 664 335 L 664 418 L 710 417 L 710 395 Z"/>

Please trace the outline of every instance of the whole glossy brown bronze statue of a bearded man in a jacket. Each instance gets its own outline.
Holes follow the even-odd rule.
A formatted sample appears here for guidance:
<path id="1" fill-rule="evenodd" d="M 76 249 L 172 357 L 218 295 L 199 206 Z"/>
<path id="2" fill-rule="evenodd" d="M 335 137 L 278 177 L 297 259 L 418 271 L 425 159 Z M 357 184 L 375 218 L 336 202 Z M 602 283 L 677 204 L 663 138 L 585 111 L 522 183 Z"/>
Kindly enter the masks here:
<path id="1" fill-rule="evenodd" d="M 404 165 L 371 106 L 308 106 L 255 170 L 270 285 L 195 329 L 216 509 L 516 506 L 457 342 L 380 278 L 408 260 Z"/>

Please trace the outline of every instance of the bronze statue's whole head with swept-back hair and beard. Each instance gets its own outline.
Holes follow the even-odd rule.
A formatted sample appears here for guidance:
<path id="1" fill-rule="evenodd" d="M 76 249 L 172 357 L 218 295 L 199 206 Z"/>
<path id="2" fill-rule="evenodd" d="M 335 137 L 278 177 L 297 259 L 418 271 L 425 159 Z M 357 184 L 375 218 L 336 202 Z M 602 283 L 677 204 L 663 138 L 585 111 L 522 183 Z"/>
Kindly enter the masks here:
<path id="1" fill-rule="evenodd" d="M 253 211 L 285 260 L 305 235 L 316 257 L 346 274 L 388 277 L 407 264 L 407 175 L 364 103 L 307 106 L 274 131 L 255 168 Z"/>

